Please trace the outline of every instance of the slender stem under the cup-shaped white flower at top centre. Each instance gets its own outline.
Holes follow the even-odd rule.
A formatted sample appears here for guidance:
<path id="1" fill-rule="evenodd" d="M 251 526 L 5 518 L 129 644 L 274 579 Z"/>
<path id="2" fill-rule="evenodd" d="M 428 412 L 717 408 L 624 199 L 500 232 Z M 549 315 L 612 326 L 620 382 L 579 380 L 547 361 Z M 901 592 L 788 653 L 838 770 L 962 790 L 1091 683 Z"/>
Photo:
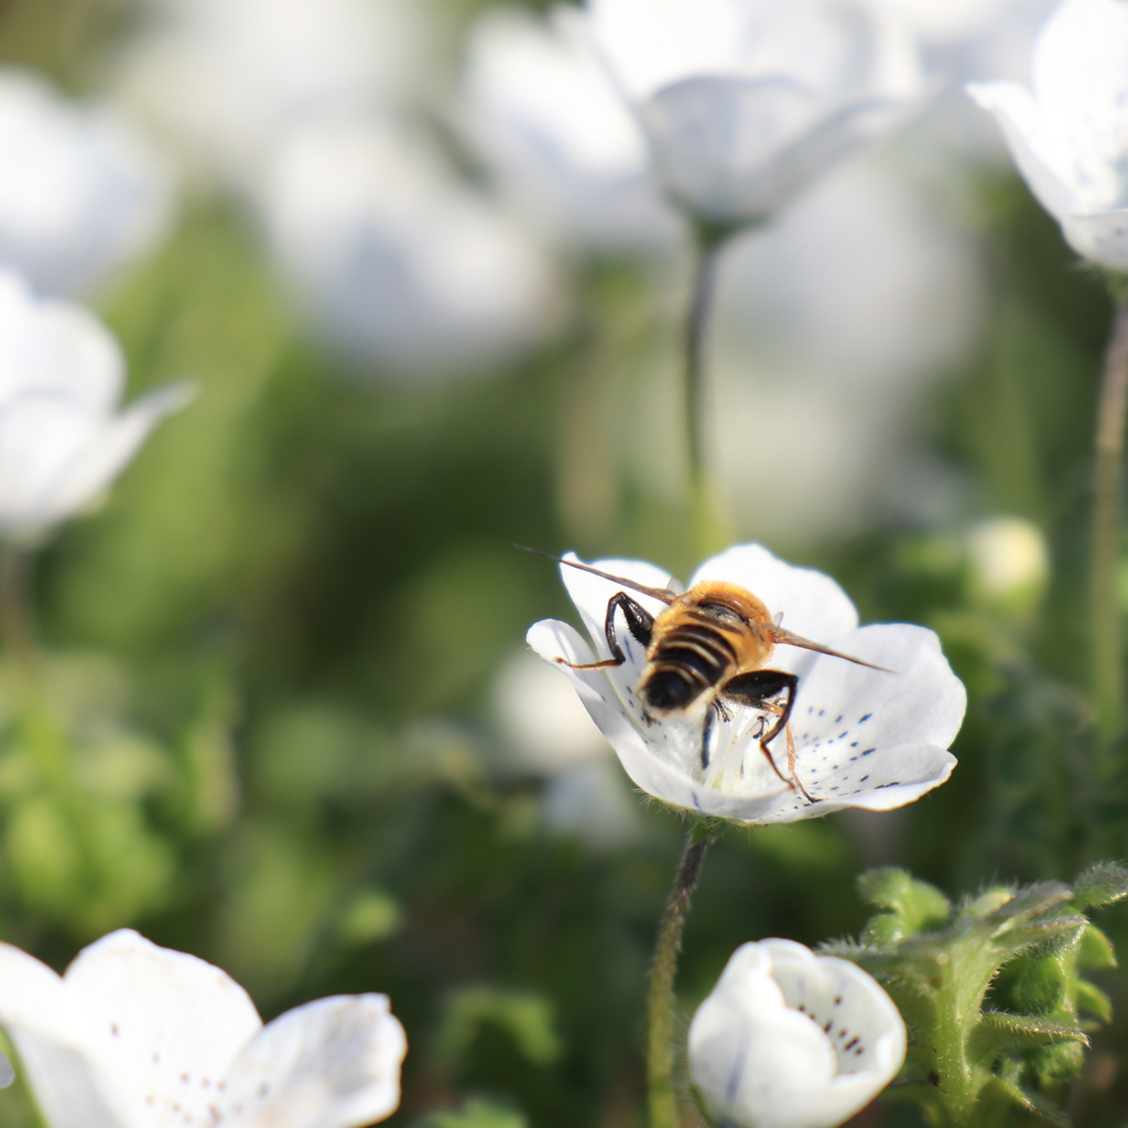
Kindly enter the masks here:
<path id="1" fill-rule="evenodd" d="M 700 226 L 696 228 L 689 312 L 685 326 L 682 393 L 689 453 L 689 492 L 697 550 L 702 556 L 711 556 L 731 540 L 705 450 L 705 340 L 717 262 L 729 233 L 726 230 L 712 230 Z"/>

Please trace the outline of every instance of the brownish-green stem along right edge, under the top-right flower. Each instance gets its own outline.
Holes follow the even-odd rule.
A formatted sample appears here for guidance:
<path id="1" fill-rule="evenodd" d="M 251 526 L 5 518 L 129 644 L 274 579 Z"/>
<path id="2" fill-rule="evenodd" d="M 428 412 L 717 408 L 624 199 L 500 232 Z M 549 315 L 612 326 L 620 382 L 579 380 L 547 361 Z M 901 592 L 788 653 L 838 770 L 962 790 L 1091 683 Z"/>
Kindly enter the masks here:
<path id="1" fill-rule="evenodd" d="M 1096 414 L 1096 474 L 1093 508 L 1092 661 L 1100 775 L 1112 765 L 1108 750 L 1123 725 L 1118 566 L 1125 414 L 1128 409 L 1128 298 L 1121 300 L 1104 358 Z"/>

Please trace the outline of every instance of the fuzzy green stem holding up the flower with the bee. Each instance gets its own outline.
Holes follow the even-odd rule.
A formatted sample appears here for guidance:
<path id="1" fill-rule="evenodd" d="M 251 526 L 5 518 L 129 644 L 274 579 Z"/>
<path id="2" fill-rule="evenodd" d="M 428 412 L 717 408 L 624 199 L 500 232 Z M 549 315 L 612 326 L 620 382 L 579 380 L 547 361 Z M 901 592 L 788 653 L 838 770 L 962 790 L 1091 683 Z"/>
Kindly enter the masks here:
<path id="1" fill-rule="evenodd" d="M 658 929 L 654 968 L 650 980 L 647 1037 L 650 1128 L 677 1128 L 680 1122 L 673 1090 L 673 980 L 678 971 L 678 953 L 681 951 L 681 933 L 689 911 L 689 898 L 697 883 L 697 871 L 708 844 L 708 832 L 703 831 L 698 825 L 689 835 Z"/>

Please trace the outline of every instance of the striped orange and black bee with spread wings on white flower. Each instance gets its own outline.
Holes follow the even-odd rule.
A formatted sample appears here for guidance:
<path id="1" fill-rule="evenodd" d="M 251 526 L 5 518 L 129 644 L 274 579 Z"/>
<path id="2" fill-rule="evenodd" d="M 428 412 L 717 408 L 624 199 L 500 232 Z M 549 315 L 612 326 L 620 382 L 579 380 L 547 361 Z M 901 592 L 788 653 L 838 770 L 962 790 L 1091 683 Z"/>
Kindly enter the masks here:
<path id="1" fill-rule="evenodd" d="M 651 599 L 666 603 L 656 617 L 626 591 L 617 591 L 607 601 L 603 633 L 611 656 L 599 662 L 576 663 L 557 658 L 561 666 L 573 670 L 607 670 L 623 666 L 626 655 L 619 646 L 615 615 L 622 613 L 627 631 L 645 647 L 646 666 L 638 681 L 637 694 L 645 710 L 656 714 L 685 713 L 704 703 L 702 731 L 702 769 L 708 767 L 708 739 L 715 717 L 731 719 L 730 706 L 754 708 L 772 717 L 765 719 L 758 733 L 760 751 L 775 774 L 791 788 L 797 788 L 808 802 L 816 802 L 795 773 L 795 740 L 791 731 L 791 713 L 799 689 L 799 675 L 774 670 L 768 666 L 777 645 L 799 646 L 819 654 L 840 658 L 870 670 L 892 673 L 881 666 L 830 650 L 821 643 L 793 634 L 781 626 L 783 614 L 772 616 L 764 601 L 740 584 L 724 580 L 703 580 L 688 591 L 678 593 L 672 583 L 667 588 L 649 588 L 620 575 L 610 575 L 578 561 L 562 559 L 538 548 L 515 547 L 547 556 L 548 559 L 622 584 Z M 653 721 L 644 712 L 644 720 Z M 768 744 L 779 733 L 786 734 L 787 772 L 779 770 Z"/>

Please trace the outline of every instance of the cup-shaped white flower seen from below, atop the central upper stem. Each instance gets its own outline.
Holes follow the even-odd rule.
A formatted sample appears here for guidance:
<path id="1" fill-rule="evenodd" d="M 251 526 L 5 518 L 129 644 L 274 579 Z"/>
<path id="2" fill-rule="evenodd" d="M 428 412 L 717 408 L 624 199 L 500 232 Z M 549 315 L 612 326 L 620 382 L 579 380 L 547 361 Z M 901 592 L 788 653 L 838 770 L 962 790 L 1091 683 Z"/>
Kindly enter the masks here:
<path id="1" fill-rule="evenodd" d="M 588 10 L 667 192 L 711 224 L 768 218 L 919 94 L 911 39 L 864 0 L 590 0 Z"/>

